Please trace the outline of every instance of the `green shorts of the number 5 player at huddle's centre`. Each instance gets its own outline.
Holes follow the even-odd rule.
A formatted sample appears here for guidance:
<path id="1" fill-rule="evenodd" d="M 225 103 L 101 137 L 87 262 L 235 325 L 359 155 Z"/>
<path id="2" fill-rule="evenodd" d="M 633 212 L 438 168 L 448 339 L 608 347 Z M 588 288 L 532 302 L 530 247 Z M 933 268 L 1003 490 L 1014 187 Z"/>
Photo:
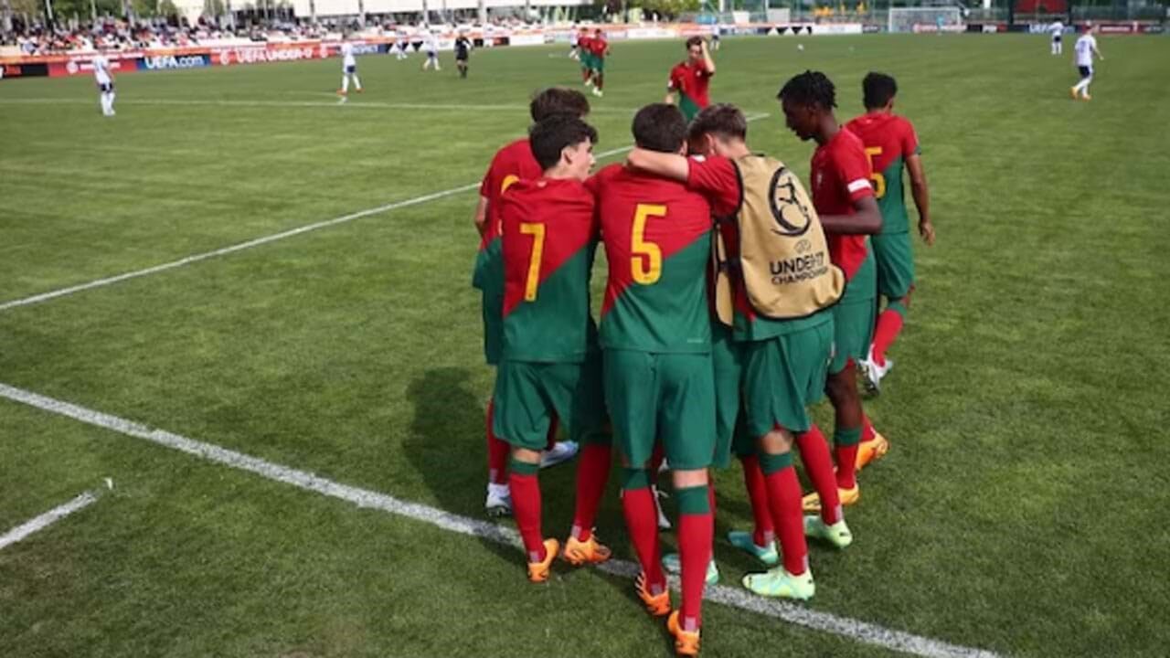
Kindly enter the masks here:
<path id="1" fill-rule="evenodd" d="M 646 464 L 655 440 L 676 471 L 707 468 L 715 454 L 715 378 L 708 354 L 605 350 L 605 400 L 618 447 Z"/>

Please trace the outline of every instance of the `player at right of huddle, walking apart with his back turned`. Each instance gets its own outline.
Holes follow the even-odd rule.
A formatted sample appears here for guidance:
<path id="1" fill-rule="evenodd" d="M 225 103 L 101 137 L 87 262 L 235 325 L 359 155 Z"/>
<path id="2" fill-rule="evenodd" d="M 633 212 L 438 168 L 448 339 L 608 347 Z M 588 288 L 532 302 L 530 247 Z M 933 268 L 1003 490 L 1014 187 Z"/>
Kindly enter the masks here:
<path id="1" fill-rule="evenodd" d="M 881 231 L 869 238 L 869 245 L 878 265 L 878 294 L 886 299 L 886 309 L 878 316 L 869 354 L 860 362 L 868 386 L 876 391 L 894 365 L 886 358 L 886 350 L 902 329 L 914 292 L 914 254 L 902 186 L 903 167 L 910 173 L 910 191 L 918 210 L 918 233 L 927 246 L 935 244 L 935 226 L 930 222 L 930 193 L 918 138 L 910 122 L 894 114 L 897 83 L 888 75 L 870 73 L 861 87 L 866 114 L 846 128 L 861 138 L 866 149 L 882 219 Z"/>

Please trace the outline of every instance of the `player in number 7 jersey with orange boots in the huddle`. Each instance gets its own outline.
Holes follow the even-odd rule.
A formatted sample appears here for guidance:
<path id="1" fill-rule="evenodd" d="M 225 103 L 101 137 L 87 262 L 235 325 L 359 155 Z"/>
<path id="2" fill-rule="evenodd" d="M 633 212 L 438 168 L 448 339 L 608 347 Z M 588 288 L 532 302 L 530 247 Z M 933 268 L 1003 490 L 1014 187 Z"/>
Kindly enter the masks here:
<path id="1" fill-rule="evenodd" d="M 549 577 L 560 549 L 541 529 L 541 450 L 553 417 L 597 459 L 578 466 L 577 508 L 565 560 L 604 562 L 610 549 L 593 536 L 593 519 L 610 473 L 603 432 L 601 364 L 590 315 L 590 272 L 598 227 L 583 181 L 593 165 L 597 131 L 571 115 L 553 115 L 529 133 L 543 174 L 518 180 L 501 197 L 504 306 L 503 359 L 496 371 L 494 430 L 511 445 L 512 507 L 532 582 Z"/>

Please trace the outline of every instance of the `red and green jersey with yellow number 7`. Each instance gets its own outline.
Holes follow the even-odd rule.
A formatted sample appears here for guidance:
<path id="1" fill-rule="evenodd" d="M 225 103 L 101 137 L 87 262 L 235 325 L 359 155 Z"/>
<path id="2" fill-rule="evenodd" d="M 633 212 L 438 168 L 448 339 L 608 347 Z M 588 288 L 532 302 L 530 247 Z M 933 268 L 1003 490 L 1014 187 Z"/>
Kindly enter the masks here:
<path id="1" fill-rule="evenodd" d="M 597 344 L 593 211 L 593 194 L 579 180 L 521 179 L 501 197 L 504 359 L 579 363 Z"/>

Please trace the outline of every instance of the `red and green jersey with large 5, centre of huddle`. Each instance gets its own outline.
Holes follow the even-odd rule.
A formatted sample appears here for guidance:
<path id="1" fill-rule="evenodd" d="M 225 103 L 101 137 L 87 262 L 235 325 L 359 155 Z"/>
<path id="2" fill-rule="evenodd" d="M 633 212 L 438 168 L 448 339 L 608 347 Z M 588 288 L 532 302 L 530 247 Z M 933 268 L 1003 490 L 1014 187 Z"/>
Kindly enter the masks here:
<path id="1" fill-rule="evenodd" d="M 601 347 L 708 352 L 707 266 L 711 208 L 674 180 L 610 165 L 586 186 L 597 197 L 610 277 Z"/>

